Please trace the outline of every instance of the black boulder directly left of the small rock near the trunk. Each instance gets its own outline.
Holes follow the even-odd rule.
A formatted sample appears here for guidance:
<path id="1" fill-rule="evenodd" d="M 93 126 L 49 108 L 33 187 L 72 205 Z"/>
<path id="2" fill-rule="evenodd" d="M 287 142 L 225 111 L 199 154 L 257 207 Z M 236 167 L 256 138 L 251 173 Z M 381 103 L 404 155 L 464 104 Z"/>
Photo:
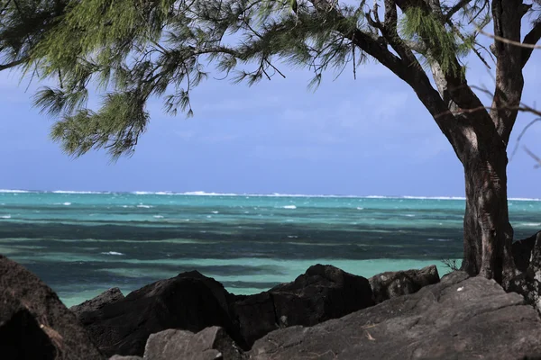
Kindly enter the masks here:
<path id="1" fill-rule="evenodd" d="M 292 283 L 256 295 L 237 296 L 234 312 L 250 346 L 274 329 L 316 325 L 373 304 L 367 279 L 335 266 L 316 265 Z"/>

